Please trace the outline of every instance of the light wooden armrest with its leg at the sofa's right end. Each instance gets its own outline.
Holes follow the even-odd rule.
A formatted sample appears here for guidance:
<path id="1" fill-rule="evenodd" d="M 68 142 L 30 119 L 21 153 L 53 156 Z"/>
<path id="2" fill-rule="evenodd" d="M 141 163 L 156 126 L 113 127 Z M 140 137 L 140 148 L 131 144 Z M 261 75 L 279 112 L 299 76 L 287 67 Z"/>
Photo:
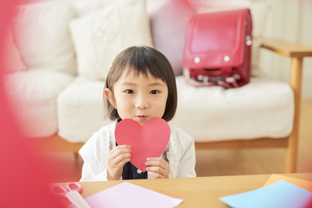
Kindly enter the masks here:
<path id="1" fill-rule="evenodd" d="M 273 38 L 264 38 L 261 47 L 291 58 L 290 85 L 294 95 L 294 116 L 293 129 L 288 138 L 288 148 L 286 150 L 285 172 L 296 172 L 296 161 L 298 153 L 299 139 L 299 115 L 301 103 L 301 80 L 302 65 L 304 57 L 312 57 L 312 46 L 299 43 L 282 41 Z"/>

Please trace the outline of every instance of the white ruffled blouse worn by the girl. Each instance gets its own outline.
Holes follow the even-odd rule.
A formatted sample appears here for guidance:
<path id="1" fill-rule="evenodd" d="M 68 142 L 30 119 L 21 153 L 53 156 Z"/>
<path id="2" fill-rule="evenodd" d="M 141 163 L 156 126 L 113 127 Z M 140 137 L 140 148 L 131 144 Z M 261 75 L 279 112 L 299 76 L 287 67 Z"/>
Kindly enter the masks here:
<path id="1" fill-rule="evenodd" d="M 107 181 L 106 155 L 116 147 L 115 127 L 116 123 L 100 128 L 79 150 L 84 161 L 80 182 Z M 193 138 L 180 128 L 170 126 L 170 131 L 168 145 L 161 155 L 169 163 L 169 178 L 196 177 Z M 148 179 L 152 178 L 148 174 Z"/>

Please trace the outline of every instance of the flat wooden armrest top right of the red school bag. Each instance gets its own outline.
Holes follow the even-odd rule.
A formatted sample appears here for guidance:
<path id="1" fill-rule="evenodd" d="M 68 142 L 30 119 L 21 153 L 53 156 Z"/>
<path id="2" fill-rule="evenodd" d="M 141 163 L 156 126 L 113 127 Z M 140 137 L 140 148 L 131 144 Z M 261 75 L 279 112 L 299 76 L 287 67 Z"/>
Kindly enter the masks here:
<path id="1" fill-rule="evenodd" d="M 263 38 L 261 47 L 286 57 L 312 56 L 312 46 L 274 38 Z"/>

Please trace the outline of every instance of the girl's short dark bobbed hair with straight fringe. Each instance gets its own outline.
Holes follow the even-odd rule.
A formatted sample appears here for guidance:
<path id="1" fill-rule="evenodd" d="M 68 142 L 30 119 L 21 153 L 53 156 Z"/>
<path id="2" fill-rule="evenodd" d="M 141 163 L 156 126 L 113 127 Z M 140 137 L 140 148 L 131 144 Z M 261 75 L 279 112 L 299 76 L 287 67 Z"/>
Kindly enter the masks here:
<path id="1" fill-rule="evenodd" d="M 175 74 L 168 59 L 156 49 L 148 46 L 132 46 L 120 52 L 112 63 L 104 86 L 104 89 L 110 89 L 114 99 L 114 84 L 125 69 L 128 69 L 126 76 L 134 73 L 137 77 L 140 74 L 148 77 L 149 72 L 153 77 L 167 84 L 168 98 L 162 119 L 169 122 L 176 113 L 177 93 Z M 106 108 L 105 117 L 112 121 L 120 118 L 117 109 L 108 101 L 105 94 L 103 97 Z"/>

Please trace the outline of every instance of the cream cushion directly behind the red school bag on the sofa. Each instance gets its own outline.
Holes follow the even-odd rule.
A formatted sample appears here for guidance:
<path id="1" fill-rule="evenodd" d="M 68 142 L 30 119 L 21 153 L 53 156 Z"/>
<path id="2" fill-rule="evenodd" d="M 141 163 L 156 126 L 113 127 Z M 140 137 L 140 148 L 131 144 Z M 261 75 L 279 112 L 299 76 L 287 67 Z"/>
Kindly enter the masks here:
<path id="1" fill-rule="evenodd" d="M 259 50 L 265 32 L 267 17 L 272 5 L 270 0 L 189 0 L 197 13 L 219 12 L 249 8 L 253 19 L 252 74 L 260 74 Z"/>

